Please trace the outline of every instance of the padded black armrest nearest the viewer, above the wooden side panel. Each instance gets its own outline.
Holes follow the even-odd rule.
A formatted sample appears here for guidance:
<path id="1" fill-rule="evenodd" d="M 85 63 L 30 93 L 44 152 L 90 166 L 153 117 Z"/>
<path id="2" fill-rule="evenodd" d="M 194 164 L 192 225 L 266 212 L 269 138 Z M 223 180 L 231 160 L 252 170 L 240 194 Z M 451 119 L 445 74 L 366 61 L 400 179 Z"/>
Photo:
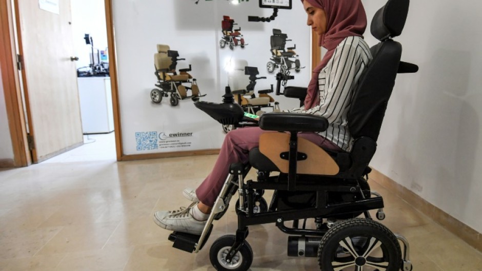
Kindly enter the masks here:
<path id="1" fill-rule="evenodd" d="M 328 128 L 328 120 L 311 114 L 270 112 L 261 115 L 259 128 L 268 131 L 323 132 Z"/>

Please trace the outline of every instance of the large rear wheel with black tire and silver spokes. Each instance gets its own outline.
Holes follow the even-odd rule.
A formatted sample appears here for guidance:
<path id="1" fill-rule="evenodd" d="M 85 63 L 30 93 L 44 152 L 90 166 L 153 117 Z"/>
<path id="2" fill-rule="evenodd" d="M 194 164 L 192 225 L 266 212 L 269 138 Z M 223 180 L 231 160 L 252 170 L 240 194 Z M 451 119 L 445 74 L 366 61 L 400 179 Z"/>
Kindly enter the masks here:
<path id="1" fill-rule="evenodd" d="M 400 244 L 395 235 L 379 222 L 363 218 L 346 220 L 323 236 L 318 247 L 318 265 L 323 271 L 362 269 L 359 267 L 398 271 L 401 266 Z"/>

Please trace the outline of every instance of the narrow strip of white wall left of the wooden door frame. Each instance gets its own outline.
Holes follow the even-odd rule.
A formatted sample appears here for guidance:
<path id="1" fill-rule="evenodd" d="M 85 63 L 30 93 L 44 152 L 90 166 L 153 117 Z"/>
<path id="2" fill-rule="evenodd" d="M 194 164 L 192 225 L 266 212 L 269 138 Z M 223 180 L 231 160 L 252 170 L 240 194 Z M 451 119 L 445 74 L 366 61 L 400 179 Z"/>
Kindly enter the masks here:
<path id="1" fill-rule="evenodd" d="M 8 127 L 4 85 L 1 74 L 2 71 L 0 70 L 0 160 L 13 160 L 12 138 L 10 136 L 10 128 Z"/>

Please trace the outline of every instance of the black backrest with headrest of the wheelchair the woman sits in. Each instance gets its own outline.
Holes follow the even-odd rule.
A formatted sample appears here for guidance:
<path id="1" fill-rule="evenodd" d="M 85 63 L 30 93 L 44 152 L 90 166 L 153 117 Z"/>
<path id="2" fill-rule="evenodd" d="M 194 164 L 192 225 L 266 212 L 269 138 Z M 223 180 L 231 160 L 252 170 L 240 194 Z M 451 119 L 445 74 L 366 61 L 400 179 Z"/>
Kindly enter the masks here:
<path id="1" fill-rule="evenodd" d="M 409 2 L 389 0 L 373 17 L 370 30 L 380 43 L 370 49 L 373 60 L 358 82 L 348 113 L 348 128 L 355 139 L 378 139 L 401 57 L 401 45 L 392 37 L 404 28 Z"/>

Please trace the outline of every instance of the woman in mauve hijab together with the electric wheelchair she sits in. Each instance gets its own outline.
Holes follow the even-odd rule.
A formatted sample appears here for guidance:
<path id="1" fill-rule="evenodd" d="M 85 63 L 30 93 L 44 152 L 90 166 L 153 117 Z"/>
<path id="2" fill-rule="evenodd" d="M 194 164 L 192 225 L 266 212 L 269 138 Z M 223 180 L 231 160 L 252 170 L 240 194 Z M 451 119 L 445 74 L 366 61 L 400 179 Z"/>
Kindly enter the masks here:
<path id="1" fill-rule="evenodd" d="M 372 48 L 362 36 L 367 18 L 361 0 L 302 3 L 308 26 L 327 49 L 313 71 L 304 105 L 263 114 L 259 127 L 229 132 L 211 174 L 196 190 L 184 191 L 191 205 L 157 211 L 154 221 L 174 231 L 169 236 L 173 247 L 198 252 L 213 220 L 237 193 L 236 235 L 220 237 L 210 248 L 217 270 L 246 271 L 253 260 L 248 226 L 275 223 L 291 235 L 288 256 L 318 257 L 323 271 L 411 271 L 407 240 L 368 212 L 378 209 L 379 220 L 385 216 L 383 199 L 366 180 L 396 74 L 418 69 L 400 61 L 401 45 L 392 39 L 403 30 L 409 0 L 388 0 L 375 13 L 370 30 L 380 43 Z M 224 101 L 195 105 L 222 124 L 240 121 L 243 109 Z M 257 181 L 244 180 L 251 166 L 258 170 Z M 269 207 L 264 190 L 274 191 Z M 302 227 L 300 219 L 305 220 Z M 307 219 L 314 219 L 315 228 L 306 227 Z M 284 224 L 288 221 L 293 221 L 291 228 Z"/>

